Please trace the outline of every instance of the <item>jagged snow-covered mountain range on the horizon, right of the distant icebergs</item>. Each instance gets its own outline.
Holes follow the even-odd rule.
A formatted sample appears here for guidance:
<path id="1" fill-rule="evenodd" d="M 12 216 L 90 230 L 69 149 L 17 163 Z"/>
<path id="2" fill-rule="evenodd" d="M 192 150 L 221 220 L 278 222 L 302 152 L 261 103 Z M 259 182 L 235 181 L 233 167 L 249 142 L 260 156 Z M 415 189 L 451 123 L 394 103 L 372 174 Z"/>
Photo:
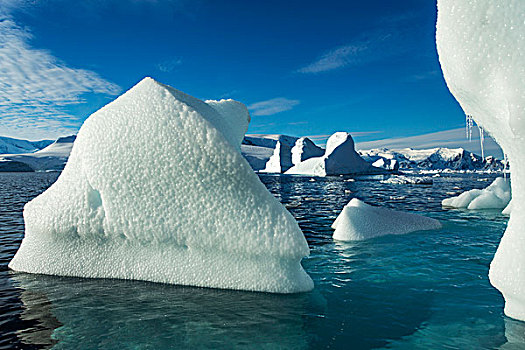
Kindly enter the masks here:
<path id="1" fill-rule="evenodd" d="M 396 161 L 400 170 L 501 170 L 504 162 L 492 156 L 481 158 L 463 148 L 371 149 L 358 153 L 369 163 Z"/>

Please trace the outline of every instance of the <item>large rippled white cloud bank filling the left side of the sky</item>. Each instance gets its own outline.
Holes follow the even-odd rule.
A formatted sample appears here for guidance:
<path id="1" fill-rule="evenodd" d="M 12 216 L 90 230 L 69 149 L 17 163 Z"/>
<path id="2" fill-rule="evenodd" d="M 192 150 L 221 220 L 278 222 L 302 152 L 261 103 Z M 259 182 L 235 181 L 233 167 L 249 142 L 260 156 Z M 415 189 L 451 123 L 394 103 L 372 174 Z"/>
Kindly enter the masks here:
<path id="1" fill-rule="evenodd" d="M 65 107 L 84 103 L 85 93 L 115 95 L 120 87 L 31 47 L 31 33 L 8 11 L 0 8 L 0 133 L 39 138 L 74 132 L 81 120 Z"/>

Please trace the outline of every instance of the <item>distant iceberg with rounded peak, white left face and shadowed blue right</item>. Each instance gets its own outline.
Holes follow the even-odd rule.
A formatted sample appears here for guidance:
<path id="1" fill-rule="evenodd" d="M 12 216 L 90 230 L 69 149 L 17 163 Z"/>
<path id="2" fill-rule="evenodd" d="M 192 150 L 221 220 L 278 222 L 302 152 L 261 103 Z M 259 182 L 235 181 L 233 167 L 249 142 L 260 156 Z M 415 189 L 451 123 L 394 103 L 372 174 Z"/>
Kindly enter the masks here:
<path id="1" fill-rule="evenodd" d="M 347 132 L 336 132 L 328 139 L 326 151 L 322 157 L 314 157 L 302 161 L 286 174 L 327 176 L 350 174 L 381 174 L 387 171 L 373 167 L 357 154 L 354 140 Z"/>

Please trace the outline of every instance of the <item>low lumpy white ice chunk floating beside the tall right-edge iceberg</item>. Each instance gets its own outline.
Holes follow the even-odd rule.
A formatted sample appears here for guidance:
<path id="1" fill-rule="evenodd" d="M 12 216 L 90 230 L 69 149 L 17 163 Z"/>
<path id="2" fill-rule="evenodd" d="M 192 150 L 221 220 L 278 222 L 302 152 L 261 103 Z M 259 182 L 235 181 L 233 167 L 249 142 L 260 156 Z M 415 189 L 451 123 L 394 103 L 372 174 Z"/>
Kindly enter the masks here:
<path id="1" fill-rule="evenodd" d="M 474 189 L 463 192 L 457 197 L 444 199 L 445 208 L 504 209 L 510 202 L 510 184 L 502 177 L 482 190 Z"/>

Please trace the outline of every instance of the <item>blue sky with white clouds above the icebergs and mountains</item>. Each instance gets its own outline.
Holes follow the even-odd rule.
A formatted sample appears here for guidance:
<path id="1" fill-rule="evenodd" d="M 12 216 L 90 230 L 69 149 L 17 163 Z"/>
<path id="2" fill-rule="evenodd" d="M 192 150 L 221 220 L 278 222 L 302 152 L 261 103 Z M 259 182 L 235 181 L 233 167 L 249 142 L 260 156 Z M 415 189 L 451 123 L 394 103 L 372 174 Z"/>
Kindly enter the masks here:
<path id="1" fill-rule="evenodd" d="M 233 98 L 251 133 L 357 141 L 461 127 L 430 0 L 0 0 L 0 134 L 74 133 L 145 76 Z"/>

